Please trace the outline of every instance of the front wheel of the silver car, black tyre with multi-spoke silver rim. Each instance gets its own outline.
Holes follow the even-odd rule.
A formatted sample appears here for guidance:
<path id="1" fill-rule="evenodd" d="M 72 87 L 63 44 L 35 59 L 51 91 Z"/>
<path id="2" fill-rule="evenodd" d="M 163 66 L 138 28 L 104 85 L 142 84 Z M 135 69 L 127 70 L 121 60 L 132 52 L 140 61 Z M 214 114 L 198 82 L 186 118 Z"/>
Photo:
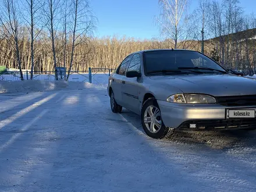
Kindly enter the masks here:
<path id="1" fill-rule="evenodd" d="M 141 108 L 141 124 L 152 138 L 170 137 L 173 130 L 163 124 L 161 111 L 155 98 L 149 98 Z"/>

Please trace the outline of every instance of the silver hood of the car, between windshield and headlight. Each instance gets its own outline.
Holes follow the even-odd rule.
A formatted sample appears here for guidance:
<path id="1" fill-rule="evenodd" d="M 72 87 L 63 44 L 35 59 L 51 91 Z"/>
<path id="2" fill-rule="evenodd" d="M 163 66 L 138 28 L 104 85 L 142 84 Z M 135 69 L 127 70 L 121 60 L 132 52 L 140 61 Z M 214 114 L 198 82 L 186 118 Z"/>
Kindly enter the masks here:
<path id="1" fill-rule="evenodd" d="M 202 93 L 215 97 L 256 94 L 256 79 L 232 74 L 183 74 L 151 76 L 154 83 L 179 88 L 183 93 Z"/>

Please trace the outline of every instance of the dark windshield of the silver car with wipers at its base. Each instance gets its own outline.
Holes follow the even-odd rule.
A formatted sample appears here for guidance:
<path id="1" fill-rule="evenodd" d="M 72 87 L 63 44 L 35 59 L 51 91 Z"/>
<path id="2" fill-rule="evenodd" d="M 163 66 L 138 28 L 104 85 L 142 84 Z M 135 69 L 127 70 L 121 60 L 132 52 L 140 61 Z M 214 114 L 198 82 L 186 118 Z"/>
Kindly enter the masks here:
<path id="1" fill-rule="evenodd" d="M 216 62 L 195 51 L 148 51 L 144 52 L 143 59 L 146 75 L 162 73 L 227 73 Z"/>

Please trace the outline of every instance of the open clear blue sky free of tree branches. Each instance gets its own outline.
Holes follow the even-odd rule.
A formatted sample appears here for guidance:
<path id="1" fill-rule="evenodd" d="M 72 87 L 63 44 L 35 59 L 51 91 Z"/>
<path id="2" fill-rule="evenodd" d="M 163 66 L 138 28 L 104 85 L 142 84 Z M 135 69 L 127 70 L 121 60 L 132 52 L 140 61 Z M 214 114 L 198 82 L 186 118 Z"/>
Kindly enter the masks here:
<path id="1" fill-rule="evenodd" d="M 189 0 L 190 10 L 197 3 L 198 0 Z M 251 13 L 256 0 L 240 0 L 240 5 Z M 98 18 L 96 37 L 116 34 L 144 39 L 159 35 L 154 19 L 159 15 L 158 0 L 91 0 L 91 6 Z"/>

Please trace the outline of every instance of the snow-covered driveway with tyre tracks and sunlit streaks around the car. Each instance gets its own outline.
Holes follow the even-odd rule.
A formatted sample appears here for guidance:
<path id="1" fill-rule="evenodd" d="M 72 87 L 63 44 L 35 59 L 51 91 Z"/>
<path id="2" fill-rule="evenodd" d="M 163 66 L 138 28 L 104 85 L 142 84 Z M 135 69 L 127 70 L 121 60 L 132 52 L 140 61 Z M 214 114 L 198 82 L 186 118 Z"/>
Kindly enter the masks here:
<path id="1" fill-rule="evenodd" d="M 256 191 L 255 131 L 154 140 L 100 88 L 0 101 L 0 191 Z"/>

